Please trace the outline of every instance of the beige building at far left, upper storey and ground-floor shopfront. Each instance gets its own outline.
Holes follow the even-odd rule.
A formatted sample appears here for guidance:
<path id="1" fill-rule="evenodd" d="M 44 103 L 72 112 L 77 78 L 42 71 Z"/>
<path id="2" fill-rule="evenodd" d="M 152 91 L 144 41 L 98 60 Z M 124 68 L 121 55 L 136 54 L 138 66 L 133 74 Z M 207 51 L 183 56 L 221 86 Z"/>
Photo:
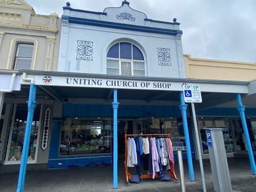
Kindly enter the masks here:
<path id="1" fill-rule="evenodd" d="M 60 26 L 61 19 L 56 13 L 38 15 L 26 1 L 0 0 L 0 70 L 3 77 L 0 87 L 0 172 L 19 170 L 21 153 L 18 151 L 21 151 L 24 140 L 29 93 L 28 87 L 20 85 L 20 79 L 26 79 L 24 70 L 56 71 Z M 49 151 L 47 145 L 40 148 L 43 127 L 40 120 L 52 100 L 42 90 L 38 89 L 37 94 L 42 97 L 36 99 L 28 163 L 42 167 L 47 164 Z"/>

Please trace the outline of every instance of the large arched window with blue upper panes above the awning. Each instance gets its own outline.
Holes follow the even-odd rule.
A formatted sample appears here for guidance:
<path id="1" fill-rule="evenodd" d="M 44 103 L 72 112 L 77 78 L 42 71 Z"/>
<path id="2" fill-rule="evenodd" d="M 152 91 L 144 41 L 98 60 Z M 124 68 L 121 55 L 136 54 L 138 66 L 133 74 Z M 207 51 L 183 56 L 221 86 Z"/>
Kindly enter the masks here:
<path id="1" fill-rule="evenodd" d="M 110 47 L 107 54 L 107 74 L 145 76 L 145 60 L 136 45 L 119 42 Z"/>

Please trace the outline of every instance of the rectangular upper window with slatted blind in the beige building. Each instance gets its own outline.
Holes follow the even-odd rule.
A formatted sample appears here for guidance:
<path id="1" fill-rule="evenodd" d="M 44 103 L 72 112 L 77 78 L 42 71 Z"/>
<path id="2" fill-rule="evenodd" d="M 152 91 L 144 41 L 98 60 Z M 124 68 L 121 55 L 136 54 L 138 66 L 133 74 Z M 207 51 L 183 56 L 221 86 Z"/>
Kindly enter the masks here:
<path id="1" fill-rule="evenodd" d="M 33 44 L 18 44 L 14 69 L 31 69 L 33 50 Z"/>

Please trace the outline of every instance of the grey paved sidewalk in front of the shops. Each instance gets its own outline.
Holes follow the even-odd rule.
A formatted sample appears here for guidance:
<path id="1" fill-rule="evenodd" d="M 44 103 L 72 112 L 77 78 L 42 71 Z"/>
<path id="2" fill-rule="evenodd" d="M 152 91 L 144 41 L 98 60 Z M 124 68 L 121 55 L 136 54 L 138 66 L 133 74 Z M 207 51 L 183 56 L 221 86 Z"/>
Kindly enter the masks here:
<path id="1" fill-rule="evenodd" d="M 124 162 L 124 161 L 123 161 Z M 195 182 L 188 179 L 188 165 L 184 160 L 186 191 L 203 191 L 200 166 L 194 161 Z M 252 175 L 248 157 L 229 158 L 230 179 L 233 191 L 256 191 L 256 176 Z M 179 177 L 179 166 L 175 170 Z M 204 172 L 207 191 L 214 191 L 211 165 L 204 160 Z M 0 175 L 0 191 L 16 191 L 18 173 Z M 28 172 L 24 191 L 181 191 L 180 183 L 171 180 L 161 182 L 159 179 L 144 179 L 143 183 L 127 186 L 124 179 L 124 164 L 118 164 L 118 189 L 113 190 L 113 168 L 111 166 L 94 166 L 86 168 L 69 168 L 61 170 L 43 170 Z"/>

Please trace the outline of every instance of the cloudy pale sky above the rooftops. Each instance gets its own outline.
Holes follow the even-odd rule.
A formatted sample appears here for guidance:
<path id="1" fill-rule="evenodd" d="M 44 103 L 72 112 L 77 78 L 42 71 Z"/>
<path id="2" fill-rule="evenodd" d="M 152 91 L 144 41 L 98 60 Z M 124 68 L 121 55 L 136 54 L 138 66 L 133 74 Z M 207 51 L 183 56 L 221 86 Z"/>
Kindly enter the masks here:
<path id="1" fill-rule="evenodd" d="M 61 17 L 63 6 L 103 12 L 122 0 L 26 0 L 38 14 Z M 193 58 L 256 63 L 255 0 L 128 0 L 148 19 L 172 22 L 183 31 L 184 54 Z"/>

